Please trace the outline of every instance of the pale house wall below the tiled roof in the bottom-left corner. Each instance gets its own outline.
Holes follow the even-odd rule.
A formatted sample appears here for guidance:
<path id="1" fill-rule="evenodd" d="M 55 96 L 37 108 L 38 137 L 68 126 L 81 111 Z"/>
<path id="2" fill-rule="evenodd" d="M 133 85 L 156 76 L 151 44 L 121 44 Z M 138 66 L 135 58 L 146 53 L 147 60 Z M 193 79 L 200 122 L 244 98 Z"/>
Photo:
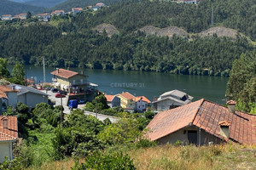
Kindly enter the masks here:
<path id="1" fill-rule="evenodd" d="M 9 160 L 14 158 L 12 141 L 0 142 L 0 163 L 5 160 L 5 156 L 7 156 Z"/>

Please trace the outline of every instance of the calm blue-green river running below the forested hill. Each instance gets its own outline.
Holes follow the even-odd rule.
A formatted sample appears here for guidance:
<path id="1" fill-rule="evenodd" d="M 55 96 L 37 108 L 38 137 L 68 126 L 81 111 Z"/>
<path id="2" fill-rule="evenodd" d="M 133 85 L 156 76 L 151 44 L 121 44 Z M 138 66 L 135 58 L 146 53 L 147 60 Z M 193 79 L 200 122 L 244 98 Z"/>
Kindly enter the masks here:
<path id="1" fill-rule="evenodd" d="M 9 65 L 11 70 L 13 65 Z M 43 81 L 43 67 L 25 65 L 26 77 L 35 77 L 37 82 Z M 51 71 L 55 68 L 46 67 L 46 82 L 51 82 Z M 71 68 L 79 71 L 79 68 Z M 104 71 L 84 69 L 89 76 L 88 81 L 99 85 L 99 89 L 107 94 L 119 94 L 127 91 L 134 95 L 144 95 L 149 100 L 166 91 L 178 89 L 197 99 L 209 99 L 224 104 L 227 77 L 204 77 L 192 75 L 172 75 L 159 72 L 141 71 Z"/>

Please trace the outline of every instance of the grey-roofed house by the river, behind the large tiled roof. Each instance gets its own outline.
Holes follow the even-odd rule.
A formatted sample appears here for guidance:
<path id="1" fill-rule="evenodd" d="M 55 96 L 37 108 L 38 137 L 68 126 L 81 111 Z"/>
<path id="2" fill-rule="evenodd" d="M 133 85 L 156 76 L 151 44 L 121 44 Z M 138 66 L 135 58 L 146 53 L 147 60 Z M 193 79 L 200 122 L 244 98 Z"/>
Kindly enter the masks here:
<path id="1" fill-rule="evenodd" d="M 192 99 L 192 96 L 189 96 L 182 91 L 172 90 L 161 94 L 160 97 L 158 99 L 154 99 L 152 103 L 154 105 L 155 111 L 157 112 L 167 111 L 181 105 L 189 104 Z"/>

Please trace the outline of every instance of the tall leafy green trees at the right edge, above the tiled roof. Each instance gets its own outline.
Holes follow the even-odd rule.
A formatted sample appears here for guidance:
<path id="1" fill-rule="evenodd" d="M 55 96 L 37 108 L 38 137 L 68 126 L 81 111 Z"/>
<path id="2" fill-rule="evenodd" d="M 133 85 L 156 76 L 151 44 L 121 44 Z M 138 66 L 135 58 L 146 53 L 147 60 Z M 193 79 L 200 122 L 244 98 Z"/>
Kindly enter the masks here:
<path id="1" fill-rule="evenodd" d="M 238 101 L 236 109 L 256 114 L 256 50 L 234 61 L 226 94 Z"/>

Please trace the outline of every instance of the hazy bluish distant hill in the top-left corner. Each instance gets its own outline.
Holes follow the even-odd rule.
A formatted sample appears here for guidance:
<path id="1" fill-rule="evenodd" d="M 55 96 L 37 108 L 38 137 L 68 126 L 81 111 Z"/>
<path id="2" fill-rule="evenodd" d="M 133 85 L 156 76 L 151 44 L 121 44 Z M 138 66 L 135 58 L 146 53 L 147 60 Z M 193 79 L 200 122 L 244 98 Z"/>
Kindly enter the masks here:
<path id="1" fill-rule="evenodd" d="M 9 0 L 1 0 L 0 4 L 0 15 L 2 14 L 20 14 L 27 13 L 28 11 L 32 13 L 44 11 L 42 7 L 35 7 L 32 5 L 24 4 L 24 3 L 15 3 Z"/>

